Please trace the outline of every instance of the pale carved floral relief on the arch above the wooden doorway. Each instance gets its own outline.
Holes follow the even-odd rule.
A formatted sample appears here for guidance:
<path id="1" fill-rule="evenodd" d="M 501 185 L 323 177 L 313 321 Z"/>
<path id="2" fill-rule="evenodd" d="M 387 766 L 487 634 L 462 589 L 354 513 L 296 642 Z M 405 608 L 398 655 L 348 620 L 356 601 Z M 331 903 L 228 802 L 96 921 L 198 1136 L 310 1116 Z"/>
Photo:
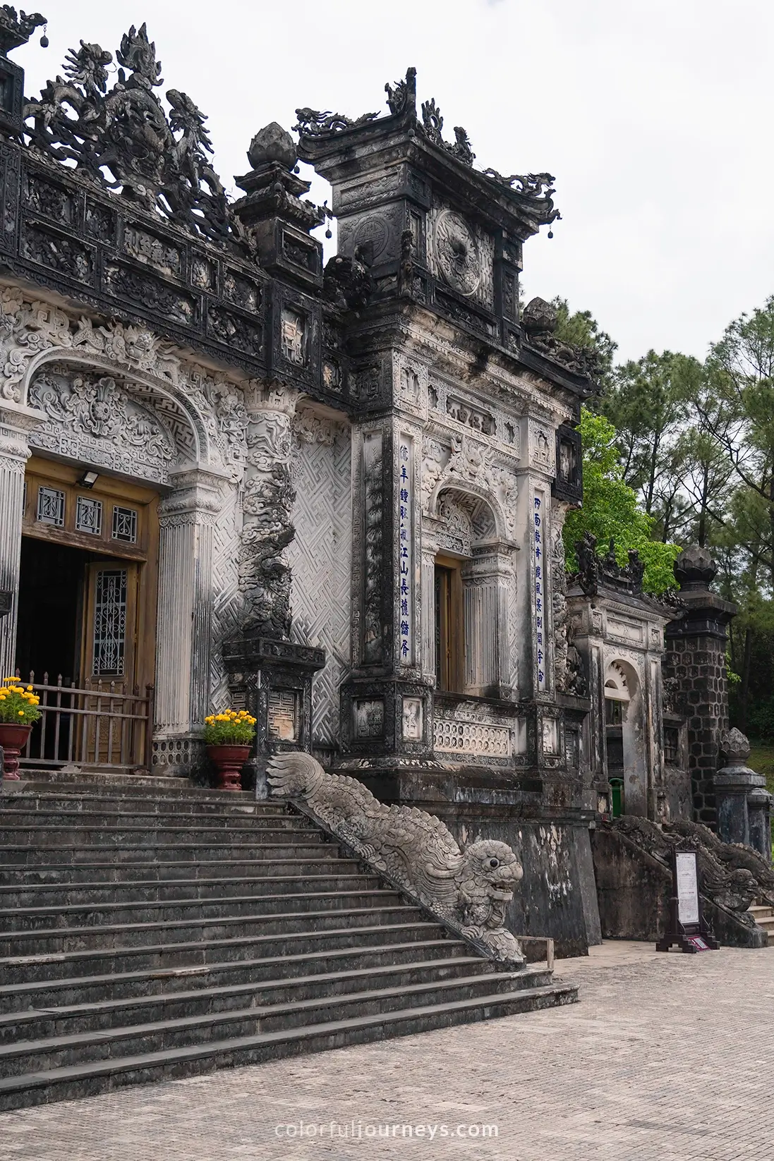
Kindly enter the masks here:
<path id="1" fill-rule="evenodd" d="M 78 377 L 81 383 L 70 392 L 44 390 L 40 381 L 51 385 L 50 363 L 66 365 L 73 383 Z M 94 375 L 106 382 L 94 385 Z M 141 410 L 151 404 L 158 412 L 157 425 L 164 426 L 166 414 L 167 425 L 178 428 L 178 444 L 180 431 L 187 427 L 182 445 L 189 457 L 234 470 L 241 464 L 248 423 L 243 388 L 188 362 L 145 327 L 71 318 L 49 303 L 24 300 L 17 287 L 0 293 L 0 401 L 29 402 L 51 420 L 80 425 L 83 435 L 113 438 L 116 428 L 109 416 L 115 412 L 119 389 L 113 390 L 108 380 L 122 384 L 119 395 L 137 396 Z M 121 405 L 128 416 L 129 404 Z M 131 406 L 129 411 L 139 424 L 137 412 Z M 158 446 L 153 440 L 149 446 Z"/>

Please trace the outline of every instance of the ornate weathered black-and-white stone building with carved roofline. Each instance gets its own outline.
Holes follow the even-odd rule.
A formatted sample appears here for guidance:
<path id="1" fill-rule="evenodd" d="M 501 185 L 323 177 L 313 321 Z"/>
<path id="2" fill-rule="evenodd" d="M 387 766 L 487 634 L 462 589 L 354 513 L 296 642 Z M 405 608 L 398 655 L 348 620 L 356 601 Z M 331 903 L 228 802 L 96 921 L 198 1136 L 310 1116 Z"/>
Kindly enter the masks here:
<path id="1" fill-rule="evenodd" d="M 595 368 L 518 308 L 553 179 L 474 166 L 409 70 L 380 115 L 261 129 L 230 202 L 144 26 L 112 88 L 81 42 L 24 100 L 22 24 L 0 19 L 0 664 L 41 687 L 26 760 L 195 776 L 205 715 L 249 706 L 259 792 L 302 749 L 503 839 L 511 926 L 585 949 L 618 741 L 628 810 L 686 794 L 668 613 L 621 577 L 566 592 Z M 299 159 L 332 187 L 324 269 Z"/>

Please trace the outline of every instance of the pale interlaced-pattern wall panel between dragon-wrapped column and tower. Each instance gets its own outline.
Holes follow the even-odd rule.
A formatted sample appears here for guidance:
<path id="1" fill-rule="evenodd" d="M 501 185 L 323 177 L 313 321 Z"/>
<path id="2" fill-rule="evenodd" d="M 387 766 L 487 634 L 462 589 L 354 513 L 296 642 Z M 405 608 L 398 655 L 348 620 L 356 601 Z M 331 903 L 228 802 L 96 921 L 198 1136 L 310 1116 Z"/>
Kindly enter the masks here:
<path id="1" fill-rule="evenodd" d="M 293 584 L 291 636 L 325 650 L 311 686 L 313 744 L 338 747 L 338 691 L 350 671 L 352 468 L 344 424 L 296 412 L 291 473 L 295 538 L 286 549 Z"/>

